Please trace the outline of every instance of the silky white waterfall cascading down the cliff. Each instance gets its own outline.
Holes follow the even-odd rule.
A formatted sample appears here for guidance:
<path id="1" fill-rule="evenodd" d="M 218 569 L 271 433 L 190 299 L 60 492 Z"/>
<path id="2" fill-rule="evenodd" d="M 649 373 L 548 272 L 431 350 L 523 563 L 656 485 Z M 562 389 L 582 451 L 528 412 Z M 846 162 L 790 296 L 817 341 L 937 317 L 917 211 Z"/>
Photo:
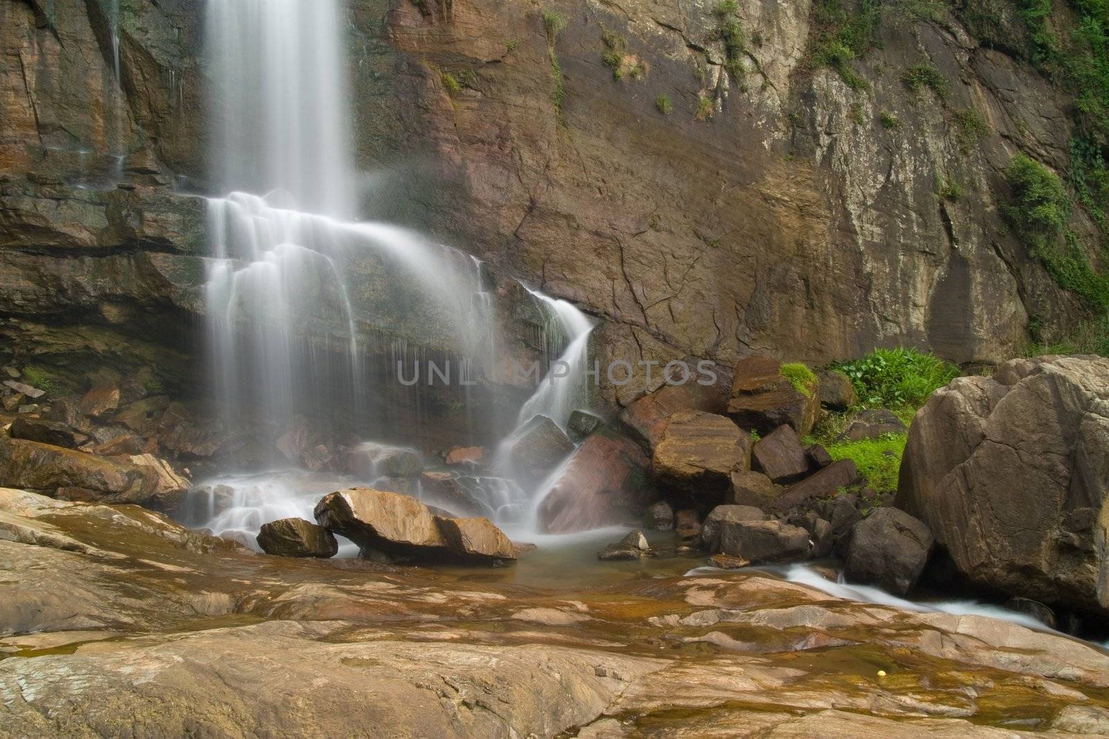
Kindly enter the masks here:
<path id="1" fill-rule="evenodd" d="M 429 326 L 449 337 L 467 377 L 491 370 L 495 311 L 481 263 L 411 232 L 354 219 L 358 178 L 349 164 L 339 19 L 336 0 L 210 0 L 211 163 L 226 195 L 208 201 L 206 302 L 212 377 L 227 428 L 250 419 L 279 432 L 312 411 L 342 417 L 359 435 L 387 438 L 372 399 L 406 388 L 367 389 L 383 382 L 381 368 L 369 365 L 381 357 L 396 363 L 411 352 L 423 358 L 421 347 L 400 337 Z M 388 296 L 373 294 L 367 283 Z M 564 427 L 584 406 L 592 322 L 566 301 L 531 296 L 550 317 L 546 359 L 558 355 L 558 361 L 520 420 L 540 413 Z M 374 346 L 367 329 L 381 311 L 408 322 L 386 346 Z M 381 392 L 368 391 L 375 389 Z M 466 401 L 469 420 L 468 394 Z M 416 423 L 419 403 L 416 392 Z M 369 447 L 406 451 L 379 441 L 353 451 Z M 273 451 L 271 468 L 297 464 L 277 449 L 284 456 Z M 197 487 L 187 520 L 250 541 L 266 521 L 311 519 L 322 492 L 379 476 L 389 478 L 376 469 L 352 476 L 285 469 L 225 474 Z M 498 523 L 526 520 L 536 493 L 499 476 L 464 475 L 459 483 Z M 420 494 L 419 486 L 411 492 Z"/>

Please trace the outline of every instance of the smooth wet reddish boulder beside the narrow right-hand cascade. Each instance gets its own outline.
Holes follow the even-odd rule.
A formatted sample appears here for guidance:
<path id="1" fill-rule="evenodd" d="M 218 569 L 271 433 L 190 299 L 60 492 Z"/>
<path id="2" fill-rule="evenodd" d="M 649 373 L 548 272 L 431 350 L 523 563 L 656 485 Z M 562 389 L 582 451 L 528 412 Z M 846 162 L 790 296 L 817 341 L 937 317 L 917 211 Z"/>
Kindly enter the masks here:
<path id="1" fill-rule="evenodd" d="M 658 499 L 651 461 L 642 448 L 612 427 L 582 442 L 539 504 L 539 523 L 552 534 L 639 525 Z"/>

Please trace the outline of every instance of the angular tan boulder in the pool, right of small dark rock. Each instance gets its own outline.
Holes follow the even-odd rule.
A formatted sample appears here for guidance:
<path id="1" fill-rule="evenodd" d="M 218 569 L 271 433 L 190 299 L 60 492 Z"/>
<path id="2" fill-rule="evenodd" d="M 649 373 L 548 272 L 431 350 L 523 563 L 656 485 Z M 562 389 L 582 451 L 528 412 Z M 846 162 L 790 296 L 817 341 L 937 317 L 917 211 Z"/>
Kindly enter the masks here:
<path id="1" fill-rule="evenodd" d="M 362 550 L 395 556 L 441 554 L 447 540 L 427 506 L 415 497 L 373 487 L 328 493 L 313 512 L 316 522 Z"/>

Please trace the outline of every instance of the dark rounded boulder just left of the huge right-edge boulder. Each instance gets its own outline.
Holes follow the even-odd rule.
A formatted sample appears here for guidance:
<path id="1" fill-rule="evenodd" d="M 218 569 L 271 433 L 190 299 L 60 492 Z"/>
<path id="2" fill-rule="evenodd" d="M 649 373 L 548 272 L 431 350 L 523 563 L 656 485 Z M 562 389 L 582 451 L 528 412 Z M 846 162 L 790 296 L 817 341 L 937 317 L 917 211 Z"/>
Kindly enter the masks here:
<path id="1" fill-rule="evenodd" d="M 919 519 L 897 509 L 878 509 L 855 524 L 844 576 L 905 595 L 924 572 L 933 543 L 932 531 Z"/>

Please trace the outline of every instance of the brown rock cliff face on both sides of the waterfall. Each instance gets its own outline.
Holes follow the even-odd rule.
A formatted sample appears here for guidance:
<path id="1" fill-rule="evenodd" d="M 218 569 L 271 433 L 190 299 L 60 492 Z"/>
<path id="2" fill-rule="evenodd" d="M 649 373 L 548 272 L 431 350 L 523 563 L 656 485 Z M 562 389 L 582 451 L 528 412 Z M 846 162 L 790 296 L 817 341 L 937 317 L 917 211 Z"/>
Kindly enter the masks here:
<path id="1" fill-rule="evenodd" d="M 983 45 L 1022 31 L 891 10 L 841 74 L 805 0 L 348 6 L 366 213 L 573 300 L 612 355 L 990 361 L 1077 315 L 999 215 L 1013 154 L 1062 170 L 1072 133 Z M 201 310 L 203 3 L 112 8 L 0 0 L 12 340 Z"/>

